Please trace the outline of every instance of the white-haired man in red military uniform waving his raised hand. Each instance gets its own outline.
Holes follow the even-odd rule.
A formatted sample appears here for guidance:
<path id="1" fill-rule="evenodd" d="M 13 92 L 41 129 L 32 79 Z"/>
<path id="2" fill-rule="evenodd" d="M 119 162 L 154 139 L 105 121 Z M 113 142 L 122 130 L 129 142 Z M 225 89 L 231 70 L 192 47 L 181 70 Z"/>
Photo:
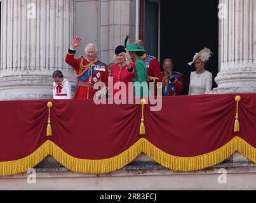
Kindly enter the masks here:
<path id="1" fill-rule="evenodd" d="M 97 46 L 87 44 L 85 53 L 87 58 L 74 58 L 76 48 L 81 44 L 81 37 L 74 37 L 71 48 L 66 55 L 65 62 L 74 69 L 77 77 L 77 89 L 74 98 L 93 98 L 98 89 L 94 89 L 96 82 L 105 82 L 107 86 L 107 65 L 97 58 Z"/>

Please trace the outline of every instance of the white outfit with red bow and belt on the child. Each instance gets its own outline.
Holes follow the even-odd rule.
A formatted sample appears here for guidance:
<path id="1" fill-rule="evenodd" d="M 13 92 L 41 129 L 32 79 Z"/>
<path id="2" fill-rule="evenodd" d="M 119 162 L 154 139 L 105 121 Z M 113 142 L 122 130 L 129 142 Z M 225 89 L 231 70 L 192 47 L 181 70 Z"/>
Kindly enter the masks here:
<path id="1" fill-rule="evenodd" d="M 67 100 L 71 99 L 71 83 L 64 79 L 60 87 L 53 82 L 53 99 Z"/>

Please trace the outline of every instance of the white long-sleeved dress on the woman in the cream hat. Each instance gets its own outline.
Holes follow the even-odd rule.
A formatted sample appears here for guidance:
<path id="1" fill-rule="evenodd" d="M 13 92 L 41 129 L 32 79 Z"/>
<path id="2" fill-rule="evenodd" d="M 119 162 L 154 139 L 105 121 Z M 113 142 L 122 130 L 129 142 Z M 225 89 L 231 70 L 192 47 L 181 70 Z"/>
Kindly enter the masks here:
<path id="1" fill-rule="evenodd" d="M 212 90 L 212 73 L 208 70 L 203 74 L 196 74 L 191 72 L 189 95 L 205 95 L 206 91 Z"/>

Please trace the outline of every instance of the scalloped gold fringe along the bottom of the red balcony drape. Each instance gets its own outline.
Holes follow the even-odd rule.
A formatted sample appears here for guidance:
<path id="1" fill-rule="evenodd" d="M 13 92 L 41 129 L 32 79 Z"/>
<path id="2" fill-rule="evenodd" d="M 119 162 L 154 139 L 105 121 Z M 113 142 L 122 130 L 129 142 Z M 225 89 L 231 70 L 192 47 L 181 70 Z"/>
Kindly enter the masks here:
<path id="1" fill-rule="evenodd" d="M 24 159 L 0 162 L 0 176 L 24 173 L 39 164 L 39 162 L 44 160 L 48 155 L 51 155 L 58 160 L 60 164 L 74 172 L 93 174 L 109 173 L 125 167 L 142 152 L 168 169 L 174 171 L 198 171 L 223 162 L 236 151 L 256 163 L 256 148 L 237 136 L 218 150 L 197 157 L 175 157 L 166 154 L 152 145 L 152 143 L 145 140 L 145 138 L 142 138 L 128 150 L 116 157 L 102 160 L 77 159 L 65 153 L 64 150 L 55 143 L 48 140 L 33 154 Z"/>

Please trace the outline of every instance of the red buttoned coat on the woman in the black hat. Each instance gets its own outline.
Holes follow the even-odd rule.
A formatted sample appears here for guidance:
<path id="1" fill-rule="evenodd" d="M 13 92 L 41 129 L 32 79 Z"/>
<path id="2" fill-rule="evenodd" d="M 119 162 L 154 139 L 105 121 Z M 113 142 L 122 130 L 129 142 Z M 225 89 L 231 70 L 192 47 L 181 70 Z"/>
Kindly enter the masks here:
<path id="1" fill-rule="evenodd" d="M 111 67 L 111 76 L 113 77 L 113 84 L 115 85 L 118 82 L 124 82 L 126 85 L 126 97 L 128 97 L 128 82 L 133 82 L 133 78 L 136 77 L 135 65 L 131 63 L 131 67 L 133 68 L 133 72 L 131 73 L 128 71 L 128 65 L 125 65 L 125 67 L 121 68 L 117 63 L 112 65 Z M 119 87 L 119 89 L 113 89 L 113 95 L 116 95 L 116 93 L 120 89 L 121 87 Z M 131 85 L 130 89 L 133 89 L 133 85 Z"/>

